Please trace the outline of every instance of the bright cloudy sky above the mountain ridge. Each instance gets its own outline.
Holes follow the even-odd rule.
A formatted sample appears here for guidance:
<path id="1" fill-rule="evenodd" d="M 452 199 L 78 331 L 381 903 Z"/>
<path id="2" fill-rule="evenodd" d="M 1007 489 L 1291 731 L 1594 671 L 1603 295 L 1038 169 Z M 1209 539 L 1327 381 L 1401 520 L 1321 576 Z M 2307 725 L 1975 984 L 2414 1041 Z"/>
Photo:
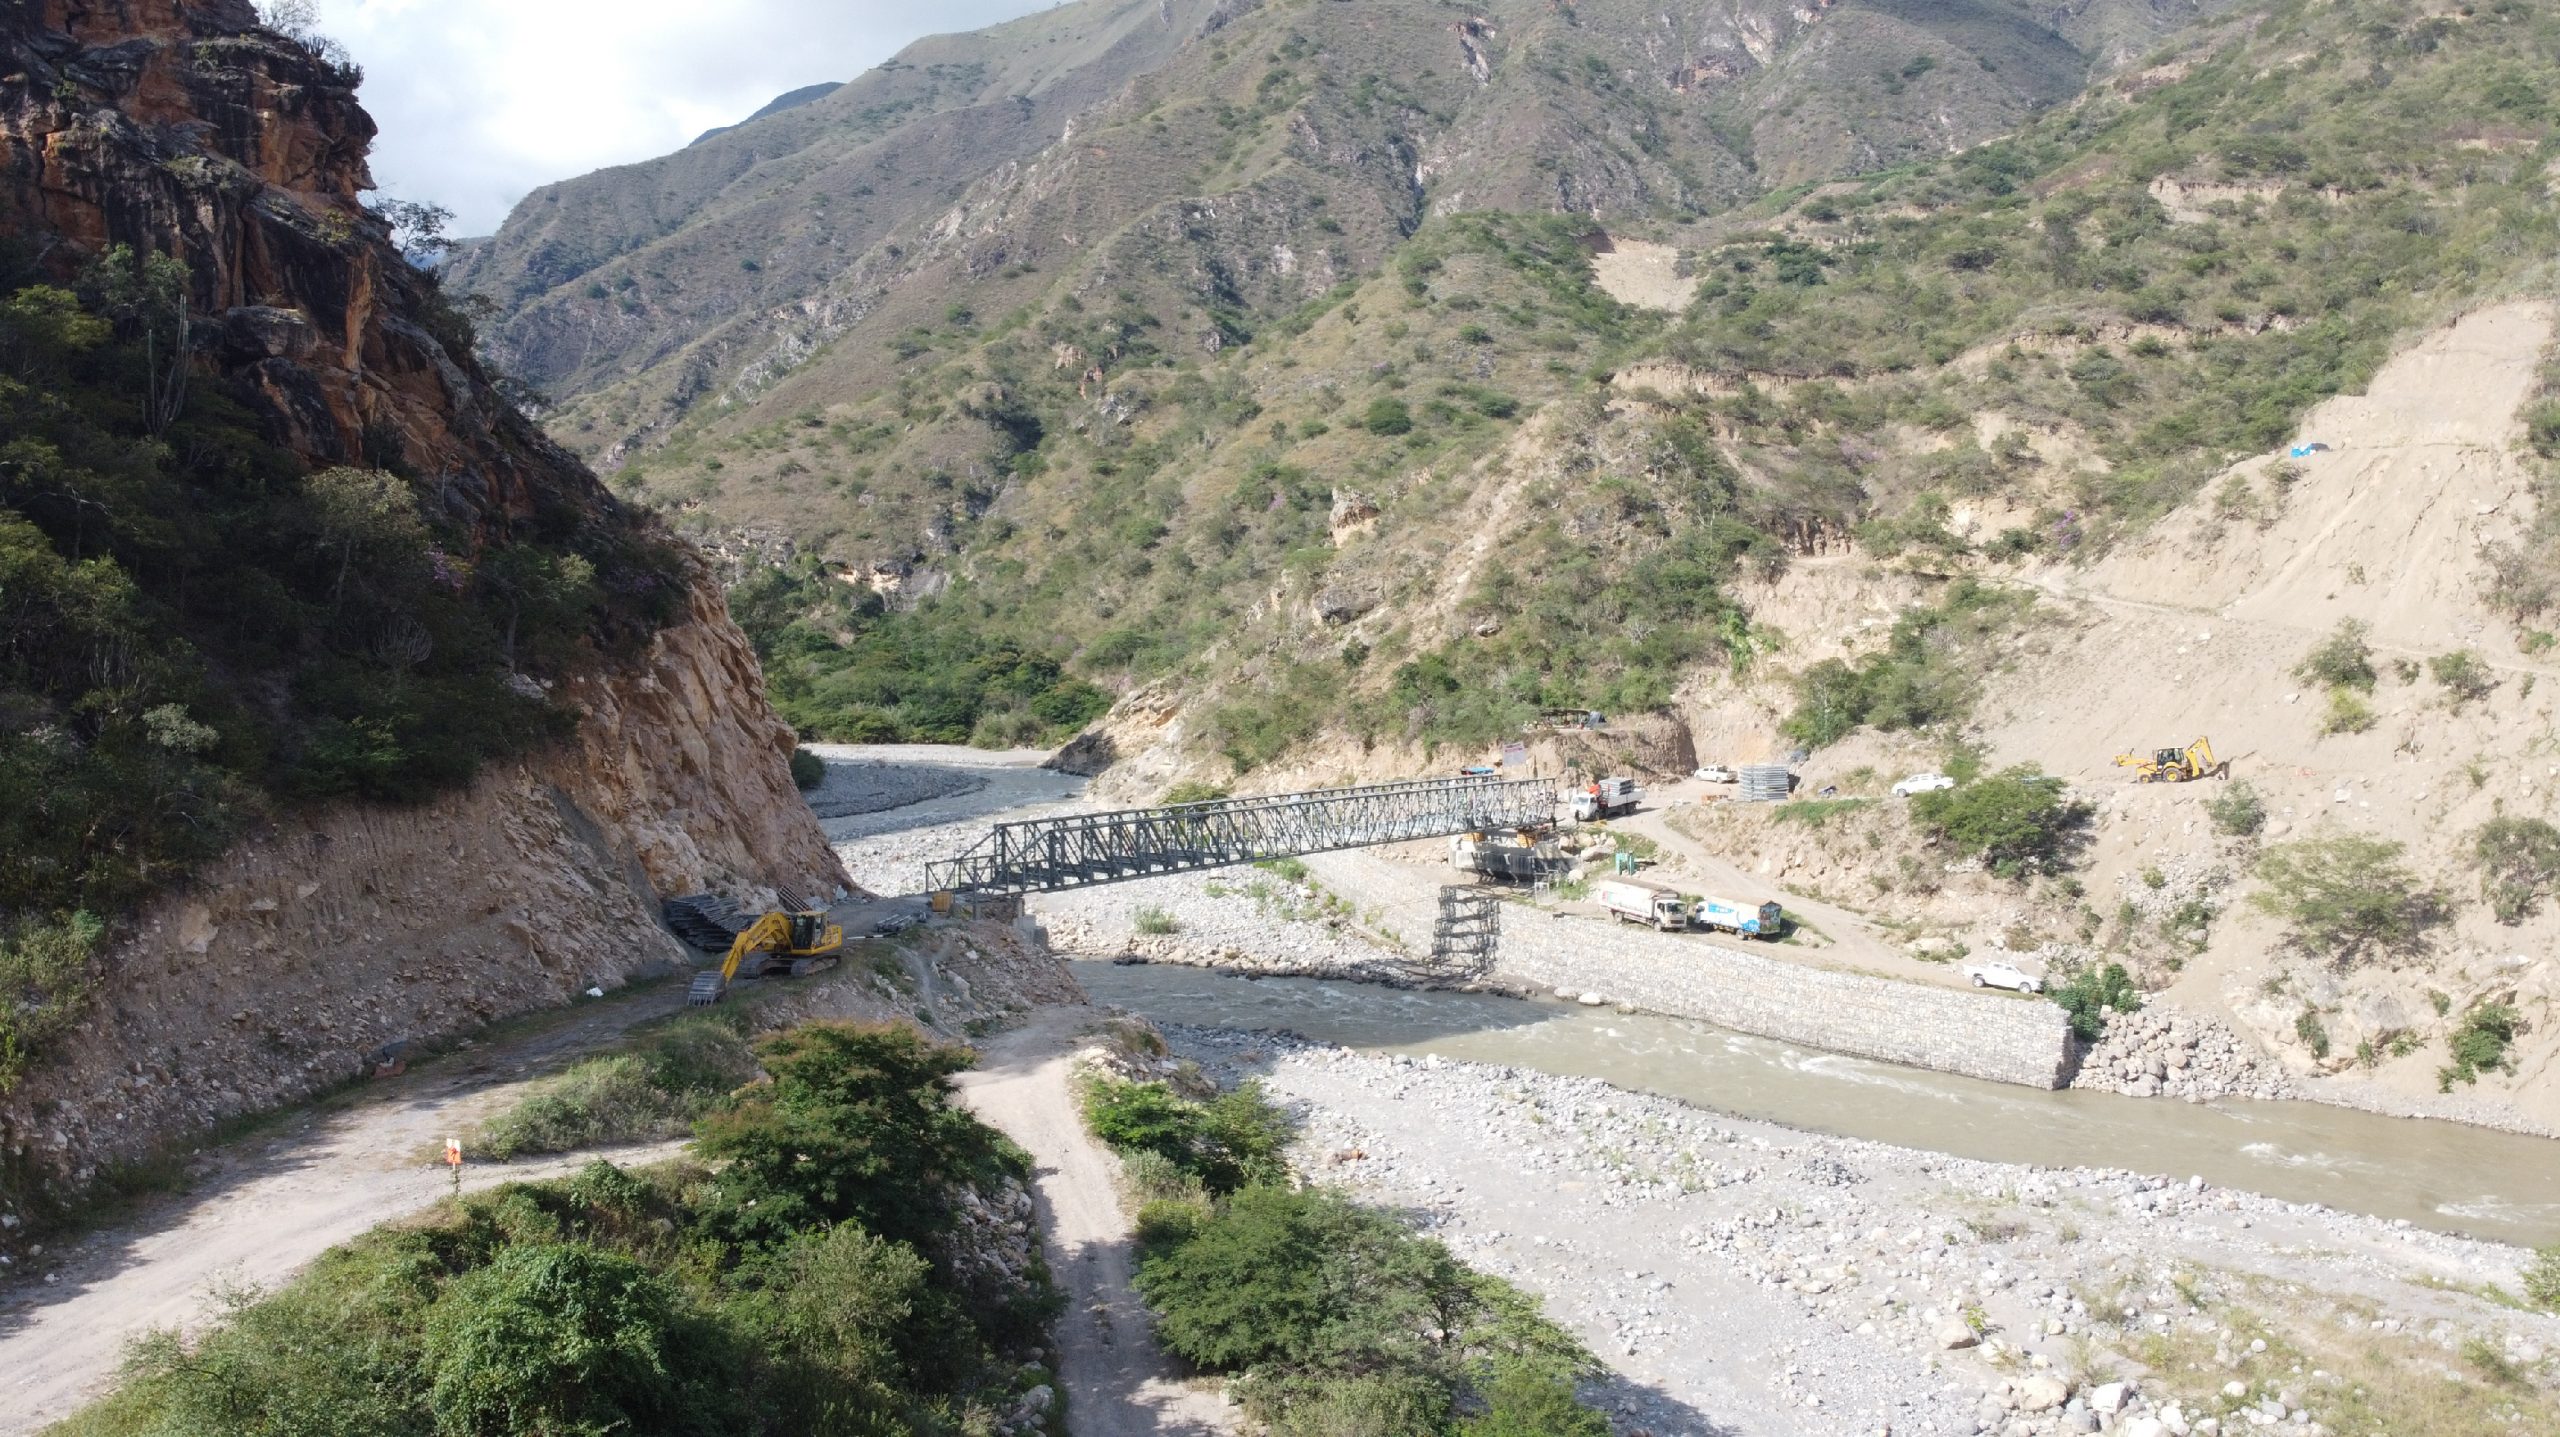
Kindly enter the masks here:
<path id="1" fill-rule="evenodd" d="M 317 0 L 364 64 L 387 195 L 481 236 L 535 184 L 681 149 L 909 41 L 1052 0 Z"/>

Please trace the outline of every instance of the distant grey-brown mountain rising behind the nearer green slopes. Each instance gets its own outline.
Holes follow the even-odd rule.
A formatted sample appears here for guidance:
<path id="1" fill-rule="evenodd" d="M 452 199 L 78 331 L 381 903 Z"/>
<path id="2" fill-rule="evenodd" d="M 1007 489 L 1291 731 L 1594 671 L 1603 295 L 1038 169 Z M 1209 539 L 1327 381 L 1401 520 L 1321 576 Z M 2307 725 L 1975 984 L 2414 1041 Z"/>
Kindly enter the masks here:
<path id="1" fill-rule="evenodd" d="M 2092 13 L 2145 31 L 2189 8 Z M 499 302 L 512 371 L 589 394 L 558 433 L 620 459 L 842 336 L 1116 287 L 1114 236 L 1188 272 L 1170 292 L 1267 315 L 1372 272 L 1426 213 L 1679 218 L 1943 154 L 2079 90 L 2089 56 L 2048 23 L 2010 0 L 1096 0 L 543 190 L 456 284 Z"/>

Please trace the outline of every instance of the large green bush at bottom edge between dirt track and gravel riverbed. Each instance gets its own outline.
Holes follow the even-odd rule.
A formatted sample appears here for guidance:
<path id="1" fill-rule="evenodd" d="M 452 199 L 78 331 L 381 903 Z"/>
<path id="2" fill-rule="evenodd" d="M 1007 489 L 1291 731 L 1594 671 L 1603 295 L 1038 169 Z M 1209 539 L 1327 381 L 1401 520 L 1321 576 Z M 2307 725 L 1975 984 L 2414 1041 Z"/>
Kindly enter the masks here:
<path id="1" fill-rule="evenodd" d="M 1485 1417 L 1526 1422 L 1592 1365 L 1533 1299 L 1326 1191 L 1242 1189 L 1149 1250 L 1137 1286 L 1165 1347 L 1244 1373 L 1236 1399 L 1280 1434 L 1436 1437 L 1477 1391 Z M 1541 1432 L 1590 1432 L 1562 1422 Z"/>

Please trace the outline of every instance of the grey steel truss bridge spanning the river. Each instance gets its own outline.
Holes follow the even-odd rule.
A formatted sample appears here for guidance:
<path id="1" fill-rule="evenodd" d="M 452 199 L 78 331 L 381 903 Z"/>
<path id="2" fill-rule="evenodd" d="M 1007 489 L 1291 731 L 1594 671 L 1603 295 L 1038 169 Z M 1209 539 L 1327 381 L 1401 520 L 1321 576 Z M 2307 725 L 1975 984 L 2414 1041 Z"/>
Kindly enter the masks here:
<path id="1" fill-rule="evenodd" d="M 929 863 L 924 879 L 940 891 L 1078 889 L 1298 853 L 1536 827 L 1554 817 L 1551 779 L 1411 779 L 998 822 L 960 858 Z"/>

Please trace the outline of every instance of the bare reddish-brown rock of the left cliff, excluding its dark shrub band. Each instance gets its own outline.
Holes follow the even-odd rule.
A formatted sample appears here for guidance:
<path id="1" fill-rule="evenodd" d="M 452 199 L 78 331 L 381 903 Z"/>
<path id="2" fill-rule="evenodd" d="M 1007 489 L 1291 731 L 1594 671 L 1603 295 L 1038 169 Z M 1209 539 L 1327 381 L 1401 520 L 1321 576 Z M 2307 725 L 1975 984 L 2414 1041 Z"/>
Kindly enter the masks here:
<path id="1" fill-rule="evenodd" d="M 371 136 L 353 74 L 246 0 L 0 10 L 0 233 L 64 277 L 113 243 L 184 259 L 200 369 L 315 466 L 397 464 L 479 535 L 663 543 L 499 397 L 389 246 L 358 202 Z M 581 715 L 571 743 L 425 807 L 279 820 L 125 925 L 92 1030 L 0 1099 L 0 1160 L 87 1181 L 387 1045 L 666 968 L 684 950 L 658 894 L 845 884 L 745 635 L 709 571 L 686 574 L 637 661 L 556 694 Z"/>

